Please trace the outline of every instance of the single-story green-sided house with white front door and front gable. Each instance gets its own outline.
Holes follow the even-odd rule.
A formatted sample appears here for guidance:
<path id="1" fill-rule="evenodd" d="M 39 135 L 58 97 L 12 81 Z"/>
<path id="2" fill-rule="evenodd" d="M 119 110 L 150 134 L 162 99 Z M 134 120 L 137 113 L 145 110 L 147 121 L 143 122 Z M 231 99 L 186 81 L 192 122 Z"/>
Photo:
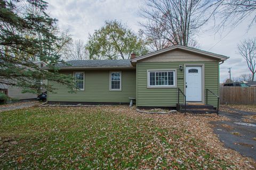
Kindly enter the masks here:
<path id="1" fill-rule="evenodd" d="M 137 107 L 176 107 L 178 94 L 188 103 L 205 104 L 206 89 L 218 95 L 219 65 L 228 57 L 175 45 L 131 60 L 69 61 L 58 64 L 60 72 L 74 75 L 79 90 L 53 81 L 49 104 L 128 104 L 136 98 Z M 71 66 L 70 66 L 71 65 Z M 46 68 L 47 69 L 47 68 Z M 180 89 L 180 90 L 178 90 Z M 181 91 L 181 92 L 179 92 Z M 209 92 L 207 103 L 215 108 L 218 98 Z"/>

